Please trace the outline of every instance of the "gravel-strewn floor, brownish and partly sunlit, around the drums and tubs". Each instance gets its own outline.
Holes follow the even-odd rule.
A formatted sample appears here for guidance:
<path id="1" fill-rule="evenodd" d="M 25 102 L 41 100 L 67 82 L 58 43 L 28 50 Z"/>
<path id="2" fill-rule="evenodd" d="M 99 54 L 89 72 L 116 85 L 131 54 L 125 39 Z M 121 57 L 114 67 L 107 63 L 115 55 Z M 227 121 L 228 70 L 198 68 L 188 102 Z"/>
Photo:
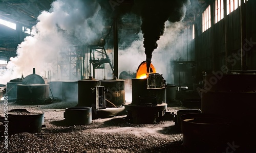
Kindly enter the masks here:
<path id="1" fill-rule="evenodd" d="M 76 102 L 58 102 L 41 106 L 20 106 L 9 103 L 8 109 L 41 110 L 45 114 L 46 128 L 40 133 L 8 135 L 8 149 L 4 137 L 1 152 L 187 152 L 183 148 L 183 135 L 174 122 L 163 120 L 156 124 L 133 124 L 126 115 L 94 119 L 88 125 L 65 124 L 63 112 Z M 168 107 L 176 113 L 181 107 Z M 4 114 L 1 103 L 1 116 Z"/>

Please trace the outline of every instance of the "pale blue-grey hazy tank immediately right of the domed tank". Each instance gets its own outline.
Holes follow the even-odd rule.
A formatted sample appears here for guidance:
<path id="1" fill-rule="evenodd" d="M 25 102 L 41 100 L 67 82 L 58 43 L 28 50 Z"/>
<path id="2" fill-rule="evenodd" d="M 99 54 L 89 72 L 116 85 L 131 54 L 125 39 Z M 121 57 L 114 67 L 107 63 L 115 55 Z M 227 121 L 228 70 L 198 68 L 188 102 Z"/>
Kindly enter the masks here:
<path id="1" fill-rule="evenodd" d="M 51 81 L 50 83 L 50 96 L 62 99 L 62 81 Z"/>

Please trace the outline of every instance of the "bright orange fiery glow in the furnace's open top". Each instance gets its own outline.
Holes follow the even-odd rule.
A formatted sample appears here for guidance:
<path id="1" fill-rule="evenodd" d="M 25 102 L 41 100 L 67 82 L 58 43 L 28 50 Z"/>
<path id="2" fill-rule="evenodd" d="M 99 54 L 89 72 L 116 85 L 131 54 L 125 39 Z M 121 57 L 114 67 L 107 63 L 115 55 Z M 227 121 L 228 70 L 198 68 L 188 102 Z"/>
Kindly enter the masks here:
<path id="1" fill-rule="evenodd" d="M 150 73 L 156 73 L 156 69 L 153 66 L 153 64 L 150 64 Z M 146 79 L 148 77 L 147 71 L 146 71 L 146 61 L 143 61 L 142 63 L 140 63 L 138 69 L 137 69 L 137 73 L 136 73 L 136 78 L 137 79 Z"/>

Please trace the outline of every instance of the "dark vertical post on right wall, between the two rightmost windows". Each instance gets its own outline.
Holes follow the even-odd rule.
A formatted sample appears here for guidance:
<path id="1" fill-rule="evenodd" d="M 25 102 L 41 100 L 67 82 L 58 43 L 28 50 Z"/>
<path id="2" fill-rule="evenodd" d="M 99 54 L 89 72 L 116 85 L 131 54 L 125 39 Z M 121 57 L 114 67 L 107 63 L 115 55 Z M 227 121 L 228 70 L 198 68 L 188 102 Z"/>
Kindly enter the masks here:
<path id="1" fill-rule="evenodd" d="M 246 14 L 245 14 L 245 3 L 244 0 L 241 1 L 241 7 L 240 7 L 240 25 L 241 25 L 241 70 L 246 70 L 246 52 L 243 50 L 243 46 L 245 45 L 245 39 L 246 39 L 246 33 L 245 33 L 245 28 L 246 28 Z M 245 1 L 246 2 L 246 1 Z"/>

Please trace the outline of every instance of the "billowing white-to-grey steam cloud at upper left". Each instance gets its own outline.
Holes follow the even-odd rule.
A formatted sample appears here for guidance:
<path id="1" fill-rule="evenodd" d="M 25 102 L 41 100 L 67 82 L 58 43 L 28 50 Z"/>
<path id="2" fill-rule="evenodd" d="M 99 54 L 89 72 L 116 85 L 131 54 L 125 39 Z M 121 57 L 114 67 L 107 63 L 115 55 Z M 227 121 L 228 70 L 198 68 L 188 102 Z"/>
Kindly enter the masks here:
<path id="1" fill-rule="evenodd" d="M 94 41 L 103 30 L 100 5 L 96 1 L 57 0 L 50 11 L 38 16 L 33 36 L 18 45 L 17 57 L 11 58 L 7 70 L 1 70 L 0 83 L 32 73 L 55 72 L 59 53 L 70 52 L 71 46 Z M 74 41 L 75 40 L 75 41 Z M 77 42 L 78 41 L 78 42 Z"/>

